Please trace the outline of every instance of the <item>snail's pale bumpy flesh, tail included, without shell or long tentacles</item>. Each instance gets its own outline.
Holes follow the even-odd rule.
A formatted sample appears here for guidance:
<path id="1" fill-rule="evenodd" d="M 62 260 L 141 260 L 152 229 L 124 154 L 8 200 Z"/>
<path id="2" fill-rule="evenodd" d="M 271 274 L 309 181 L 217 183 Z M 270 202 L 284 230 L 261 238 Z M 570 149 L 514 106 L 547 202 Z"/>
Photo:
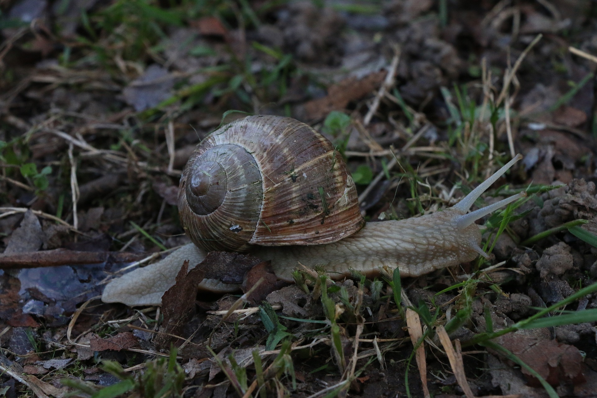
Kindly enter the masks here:
<path id="1" fill-rule="evenodd" d="M 479 227 L 471 224 L 459 229 L 455 220 L 461 215 L 461 211 L 448 208 L 417 218 L 368 223 L 355 235 L 326 245 L 255 246 L 249 252 L 262 260 L 271 260 L 276 276 L 287 282 L 293 281 L 293 270 L 299 264 L 322 266 L 332 279 L 343 278 L 350 269 L 373 276 L 384 266 L 398 267 L 401 276 L 419 276 L 474 260 L 479 255 Z M 101 299 L 128 306 L 159 305 L 162 294 L 174 285 L 184 260 L 189 260 L 192 269 L 205 255 L 192 243 L 185 245 L 158 263 L 112 280 Z M 198 288 L 228 293 L 237 291 L 239 285 L 208 279 Z"/>

